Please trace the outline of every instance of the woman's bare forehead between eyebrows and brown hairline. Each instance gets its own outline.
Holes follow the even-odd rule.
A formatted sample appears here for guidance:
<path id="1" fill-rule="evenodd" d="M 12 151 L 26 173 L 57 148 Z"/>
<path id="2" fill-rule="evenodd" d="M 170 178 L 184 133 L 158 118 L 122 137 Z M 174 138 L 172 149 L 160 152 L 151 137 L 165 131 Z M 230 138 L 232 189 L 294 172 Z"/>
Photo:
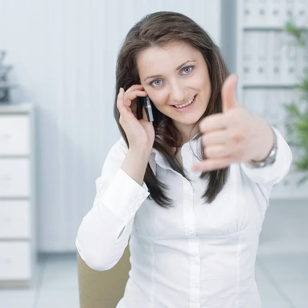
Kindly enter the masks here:
<path id="1" fill-rule="evenodd" d="M 169 43 L 163 47 L 151 47 L 141 52 L 137 57 L 139 72 L 142 73 L 151 67 L 163 68 L 166 66 L 179 66 L 188 60 L 198 60 L 202 57 L 199 50 L 187 43 Z"/>

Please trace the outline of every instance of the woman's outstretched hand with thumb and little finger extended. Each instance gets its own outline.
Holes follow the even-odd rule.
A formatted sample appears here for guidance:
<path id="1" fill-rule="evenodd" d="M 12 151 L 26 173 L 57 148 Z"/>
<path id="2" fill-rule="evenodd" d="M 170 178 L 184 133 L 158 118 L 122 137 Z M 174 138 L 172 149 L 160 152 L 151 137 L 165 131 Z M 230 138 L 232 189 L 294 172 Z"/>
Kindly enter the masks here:
<path id="1" fill-rule="evenodd" d="M 199 124 L 205 160 L 192 171 L 222 169 L 232 163 L 263 161 L 274 138 L 271 126 L 255 118 L 236 98 L 237 76 L 230 75 L 221 90 L 222 113 L 208 115 Z"/>

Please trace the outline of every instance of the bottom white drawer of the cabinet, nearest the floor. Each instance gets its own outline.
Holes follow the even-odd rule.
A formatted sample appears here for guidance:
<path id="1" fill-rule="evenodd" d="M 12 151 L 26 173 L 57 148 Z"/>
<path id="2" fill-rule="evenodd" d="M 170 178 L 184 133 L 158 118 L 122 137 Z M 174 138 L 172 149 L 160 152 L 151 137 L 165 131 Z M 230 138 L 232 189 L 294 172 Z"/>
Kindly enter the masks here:
<path id="1" fill-rule="evenodd" d="M 30 242 L 0 242 L 0 280 L 29 280 Z"/>

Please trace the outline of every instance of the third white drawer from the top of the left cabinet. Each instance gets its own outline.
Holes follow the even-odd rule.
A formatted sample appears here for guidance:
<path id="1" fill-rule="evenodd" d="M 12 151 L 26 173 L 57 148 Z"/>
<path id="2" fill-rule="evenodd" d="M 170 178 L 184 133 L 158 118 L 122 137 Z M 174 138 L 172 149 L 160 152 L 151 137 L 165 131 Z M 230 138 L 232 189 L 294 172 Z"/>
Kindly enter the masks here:
<path id="1" fill-rule="evenodd" d="M 0 201 L 0 239 L 29 239 L 30 202 Z"/>

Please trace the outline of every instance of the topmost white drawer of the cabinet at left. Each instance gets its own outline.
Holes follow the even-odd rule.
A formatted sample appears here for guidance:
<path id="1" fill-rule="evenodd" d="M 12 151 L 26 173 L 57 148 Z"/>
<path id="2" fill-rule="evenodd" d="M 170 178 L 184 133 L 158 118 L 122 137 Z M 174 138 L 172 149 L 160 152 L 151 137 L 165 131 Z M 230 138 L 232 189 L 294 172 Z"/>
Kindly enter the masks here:
<path id="1" fill-rule="evenodd" d="M 0 155 L 29 155 L 28 115 L 0 115 Z"/>

